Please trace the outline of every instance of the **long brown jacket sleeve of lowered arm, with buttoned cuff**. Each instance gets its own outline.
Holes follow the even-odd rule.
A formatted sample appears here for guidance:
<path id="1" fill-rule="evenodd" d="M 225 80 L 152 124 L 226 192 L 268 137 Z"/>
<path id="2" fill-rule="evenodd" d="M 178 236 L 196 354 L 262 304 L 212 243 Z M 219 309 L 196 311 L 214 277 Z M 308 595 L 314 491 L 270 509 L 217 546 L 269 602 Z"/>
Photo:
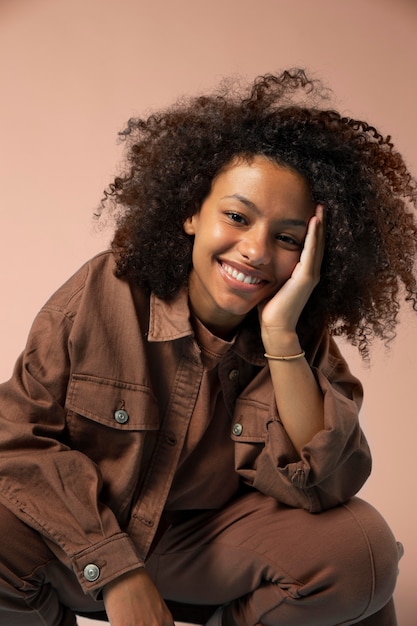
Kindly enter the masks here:
<path id="1" fill-rule="evenodd" d="M 0 501 L 42 534 L 86 593 L 97 595 L 143 563 L 100 502 L 97 466 L 69 447 L 64 405 L 71 326 L 62 311 L 45 308 L 13 377 L 0 385 Z"/>

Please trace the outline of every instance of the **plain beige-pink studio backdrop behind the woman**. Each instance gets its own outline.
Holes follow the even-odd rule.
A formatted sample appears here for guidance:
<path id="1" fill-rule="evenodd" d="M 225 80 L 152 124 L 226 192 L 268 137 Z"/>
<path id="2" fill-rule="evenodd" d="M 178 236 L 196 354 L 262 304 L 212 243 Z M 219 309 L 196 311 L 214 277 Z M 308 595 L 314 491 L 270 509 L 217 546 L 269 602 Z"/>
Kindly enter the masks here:
<path id="1" fill-rule="evenodd" d="M 128 117 L 224 75 L 295 65 L 392 134 L 417 172 L 415 0 L 0 0 L 0 379 L 45 299 L 108 244 L 91 214 Z M 406 546 L 400 626 L 417 613 L 416 342 L 417 315 L 404 313 L 371 369 L 345 350 L 374 453 L 362 495 Z"/>

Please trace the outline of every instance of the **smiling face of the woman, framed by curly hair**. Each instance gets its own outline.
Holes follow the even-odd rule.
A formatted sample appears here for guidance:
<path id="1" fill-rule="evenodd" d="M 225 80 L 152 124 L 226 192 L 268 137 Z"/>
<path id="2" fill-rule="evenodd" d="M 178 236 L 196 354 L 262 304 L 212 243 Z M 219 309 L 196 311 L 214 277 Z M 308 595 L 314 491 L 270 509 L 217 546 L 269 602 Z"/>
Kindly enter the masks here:
<path id="1" fill-rule="evenodd" d="M 218 174 L 184 223 L 194 236 L 191 308 L 212 332 L 227 336 L 291 276 L 314 210 L 305 179 L 263 156 Z"/>

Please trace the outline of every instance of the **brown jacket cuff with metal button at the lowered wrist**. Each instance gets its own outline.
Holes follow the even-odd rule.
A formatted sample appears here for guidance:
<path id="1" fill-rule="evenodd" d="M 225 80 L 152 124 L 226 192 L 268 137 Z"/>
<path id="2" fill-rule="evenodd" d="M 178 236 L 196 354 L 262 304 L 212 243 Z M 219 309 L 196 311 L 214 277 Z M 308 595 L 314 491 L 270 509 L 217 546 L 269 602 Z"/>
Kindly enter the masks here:
<path id="1" fill-rule="evenodd" d="M 107 583 L 144 567 L 144 562 L 129 536 L 118 533 L 76 554 L 72 558 L 72 567 L 84 593 L 97 599 Z"/>

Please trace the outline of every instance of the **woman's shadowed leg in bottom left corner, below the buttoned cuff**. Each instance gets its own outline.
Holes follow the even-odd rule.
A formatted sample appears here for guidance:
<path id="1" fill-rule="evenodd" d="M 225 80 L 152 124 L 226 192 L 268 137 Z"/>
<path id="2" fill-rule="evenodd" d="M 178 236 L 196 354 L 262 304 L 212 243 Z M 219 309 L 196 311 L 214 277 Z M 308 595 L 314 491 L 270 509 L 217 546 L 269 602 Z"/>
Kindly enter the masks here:
<path id="1" fill-rule="evenodd" d="M 103 608 L 42 537 L 1 504 L 0 537 L 0 624 L 74 626 L 76 610 Z"/>

